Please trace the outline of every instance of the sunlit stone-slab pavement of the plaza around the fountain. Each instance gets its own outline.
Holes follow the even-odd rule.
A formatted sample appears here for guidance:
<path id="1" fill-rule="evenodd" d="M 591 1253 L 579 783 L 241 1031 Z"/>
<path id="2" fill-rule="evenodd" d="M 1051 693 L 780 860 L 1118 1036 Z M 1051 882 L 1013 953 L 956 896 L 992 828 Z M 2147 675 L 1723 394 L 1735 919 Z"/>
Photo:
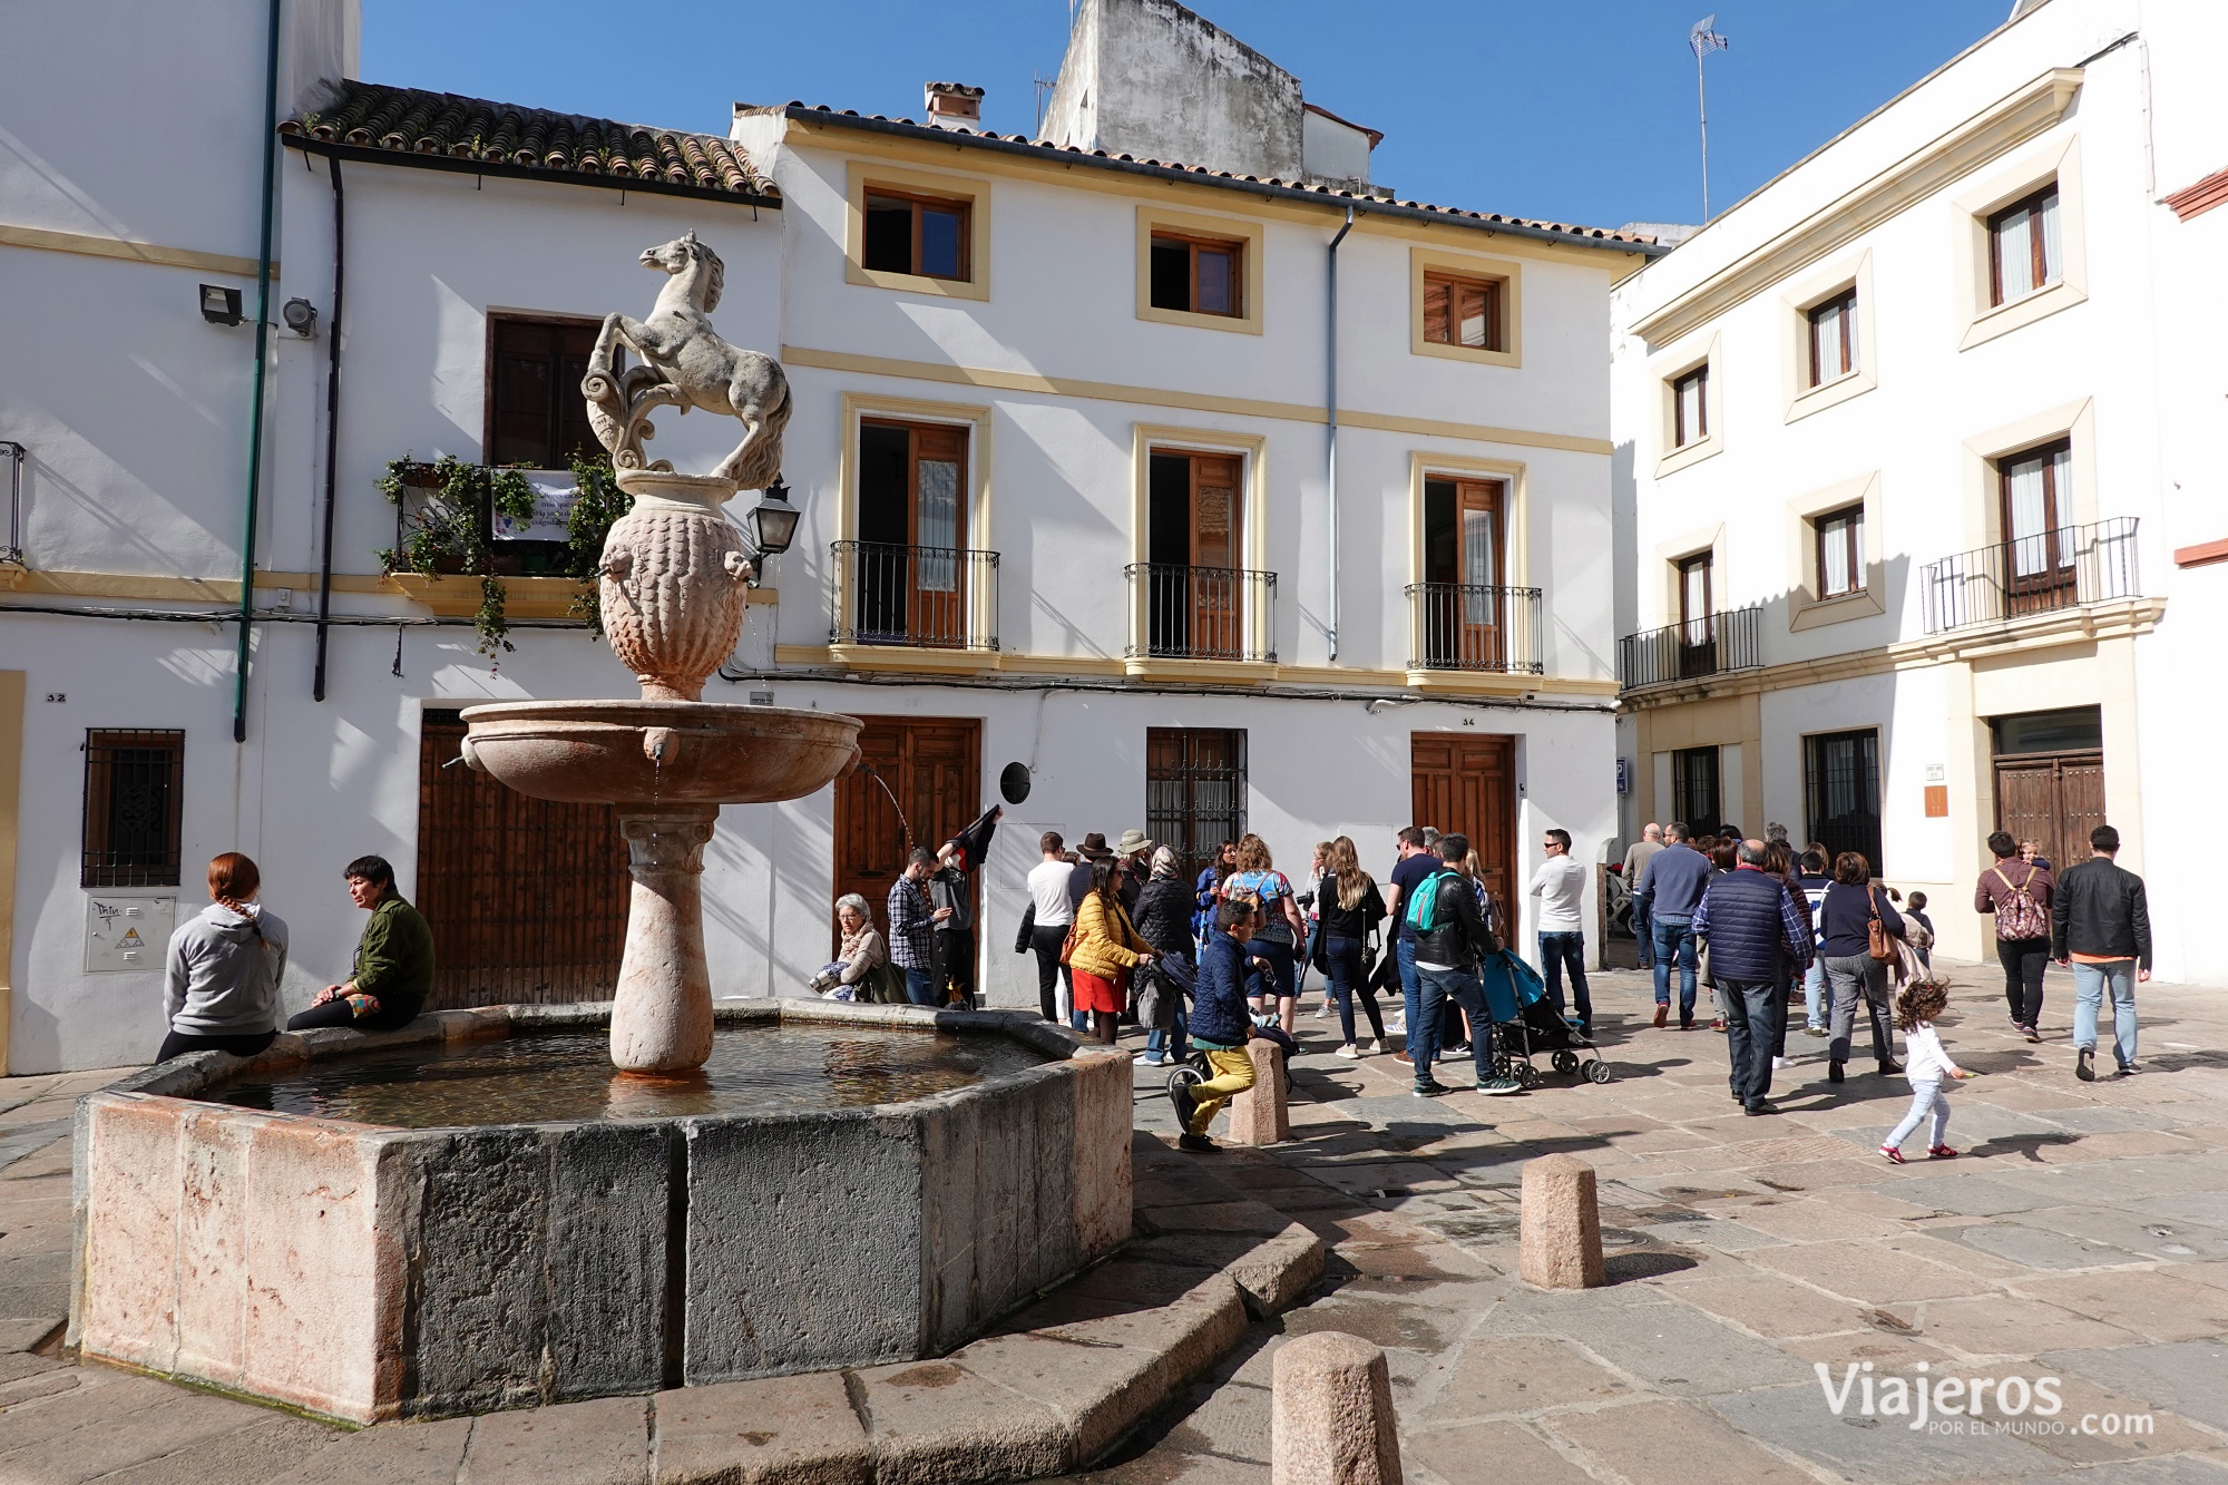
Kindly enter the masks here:
<path id="1" fill-rule="evenodd" d="M 1796 1030 L 1785 1113 L 1742 1117 L 1724 1041 L 1651 1030 L 1633 972 L 1595 977 L 1618 1079 L 1548 1072 L 1517 1099 L 1413 1099 L 1404 1066 L 1332 1059 L 1335 1021 L 1303 1019 L 1292 1142 L 1196 1159 L 1312 1226 L 1326 1280 L 1083 1478 L 1266 1485 L 1274 1349 L 1341 1329 L 1386 1347 L 1417 1485 L 2228 1485 L 2228 997 L 2143 986 L 2143 1070 L 2079 1084 L 2068 979 L 2052 972 L 2043 1046 L 2012 1037 L 1992 970 L 1956 979 L 1943 1037 L 1983 1072 L 1952 1093 L 1965 1157 L 1900 1168 L 1876 1153 L 1900 1077 L 1860 1061 L 1829 1086 L 1825 1044 Z M 334 1472 L 319 1465 L 334 1429 L 56 1356 L 56 1137 L 69 1099 L 107 1079 L 0 1081 L 0 1485 L 446 1483 L 468 1454 L 472 1485 L 635 1478 L 599 1467 L 595 1440 L 544 1438 L 535 1414 L 381 1429 L 394 1454 L 374 1476 Z M 1159 1081 L 1139 1068 L 1139 1128 L 1172 1135 Z M 1551 1151 L 1600 1171 L 1604 1289 L 1513 1278 L 1522 1162 Z M 1981 1431 L 1909 1429 L 1867 1416 L 1854 1387 L 1836 1416 L 1820 1362 L 1836 1385 L 1869 1362 L 1883 1407 L 1885 1378 L 1925 1362 L 1932 1378 L 2059 1378 L 2061 1409 L 2030 1405 L 2005 1431 L 1994 1407 Z"/>

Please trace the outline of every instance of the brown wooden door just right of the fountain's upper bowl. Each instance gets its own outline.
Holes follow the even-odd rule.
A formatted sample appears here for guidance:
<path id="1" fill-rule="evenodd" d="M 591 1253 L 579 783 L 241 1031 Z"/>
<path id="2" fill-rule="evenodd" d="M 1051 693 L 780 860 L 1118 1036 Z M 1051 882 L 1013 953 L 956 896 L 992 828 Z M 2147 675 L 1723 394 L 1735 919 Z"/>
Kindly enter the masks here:
<path id="1" fill-rule="evenodd" d="M 862 767 L 836 780 L 836 894 L 864 896 L 873 925 L 887 934 L 889 887 L 905 870 L 907 852 L 916 845 L 934 852 L 983 814 L 983 722 L 942 716 L 860 720 Z M 833 932 L 831 914 L 831 941 Z"/>

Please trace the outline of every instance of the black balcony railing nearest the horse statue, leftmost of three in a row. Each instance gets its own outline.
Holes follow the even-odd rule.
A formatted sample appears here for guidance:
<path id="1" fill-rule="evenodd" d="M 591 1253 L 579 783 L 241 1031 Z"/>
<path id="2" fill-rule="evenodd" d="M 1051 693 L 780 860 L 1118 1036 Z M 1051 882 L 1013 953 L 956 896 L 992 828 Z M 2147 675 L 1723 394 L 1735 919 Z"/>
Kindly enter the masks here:
<path id="1" fill-rule="evenodd" d="M 998 649 L 998 553 L 836 542 L 829 644 Z"/>

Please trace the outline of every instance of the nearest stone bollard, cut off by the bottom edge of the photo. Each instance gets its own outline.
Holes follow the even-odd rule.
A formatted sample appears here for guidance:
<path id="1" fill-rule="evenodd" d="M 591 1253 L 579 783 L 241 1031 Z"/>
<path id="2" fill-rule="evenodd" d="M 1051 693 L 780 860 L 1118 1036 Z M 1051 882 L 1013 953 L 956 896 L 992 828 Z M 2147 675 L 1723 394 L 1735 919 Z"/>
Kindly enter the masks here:
<path id="1" fill-rule="evenodd" d="M 1272 1485 L 1399 1485 L 1399 1429 L 1386 1353 L 1341 1331 L 1277 1351 Z"/>

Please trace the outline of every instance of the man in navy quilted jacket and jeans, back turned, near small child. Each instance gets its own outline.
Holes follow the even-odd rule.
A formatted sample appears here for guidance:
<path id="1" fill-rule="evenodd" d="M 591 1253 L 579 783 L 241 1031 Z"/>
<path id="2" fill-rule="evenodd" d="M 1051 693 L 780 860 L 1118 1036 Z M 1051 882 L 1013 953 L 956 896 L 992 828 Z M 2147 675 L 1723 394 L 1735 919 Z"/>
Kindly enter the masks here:
<path id="1" fill-rule="evenodd" d="M 1662 852 L 1669 856 L 1671 852 Z M 1658 861 L 1662 861 L 1658 856 Z M 1742 841 L 1740 865 L 1716 876 L 1693 910 L 1693 936 L 1709 939 L 1709 968 L 1724 1001 L 1724 1050 L 1733 1059 L 1733 1101 L 1751 1115 L 1778 1113 L 1771 1093 L 1771 1046 L 1787 1015 L 1782 954 L 1809 963 L 1811 934 L 1787 883 L 1765 872 L 1765 843 Z"/>

